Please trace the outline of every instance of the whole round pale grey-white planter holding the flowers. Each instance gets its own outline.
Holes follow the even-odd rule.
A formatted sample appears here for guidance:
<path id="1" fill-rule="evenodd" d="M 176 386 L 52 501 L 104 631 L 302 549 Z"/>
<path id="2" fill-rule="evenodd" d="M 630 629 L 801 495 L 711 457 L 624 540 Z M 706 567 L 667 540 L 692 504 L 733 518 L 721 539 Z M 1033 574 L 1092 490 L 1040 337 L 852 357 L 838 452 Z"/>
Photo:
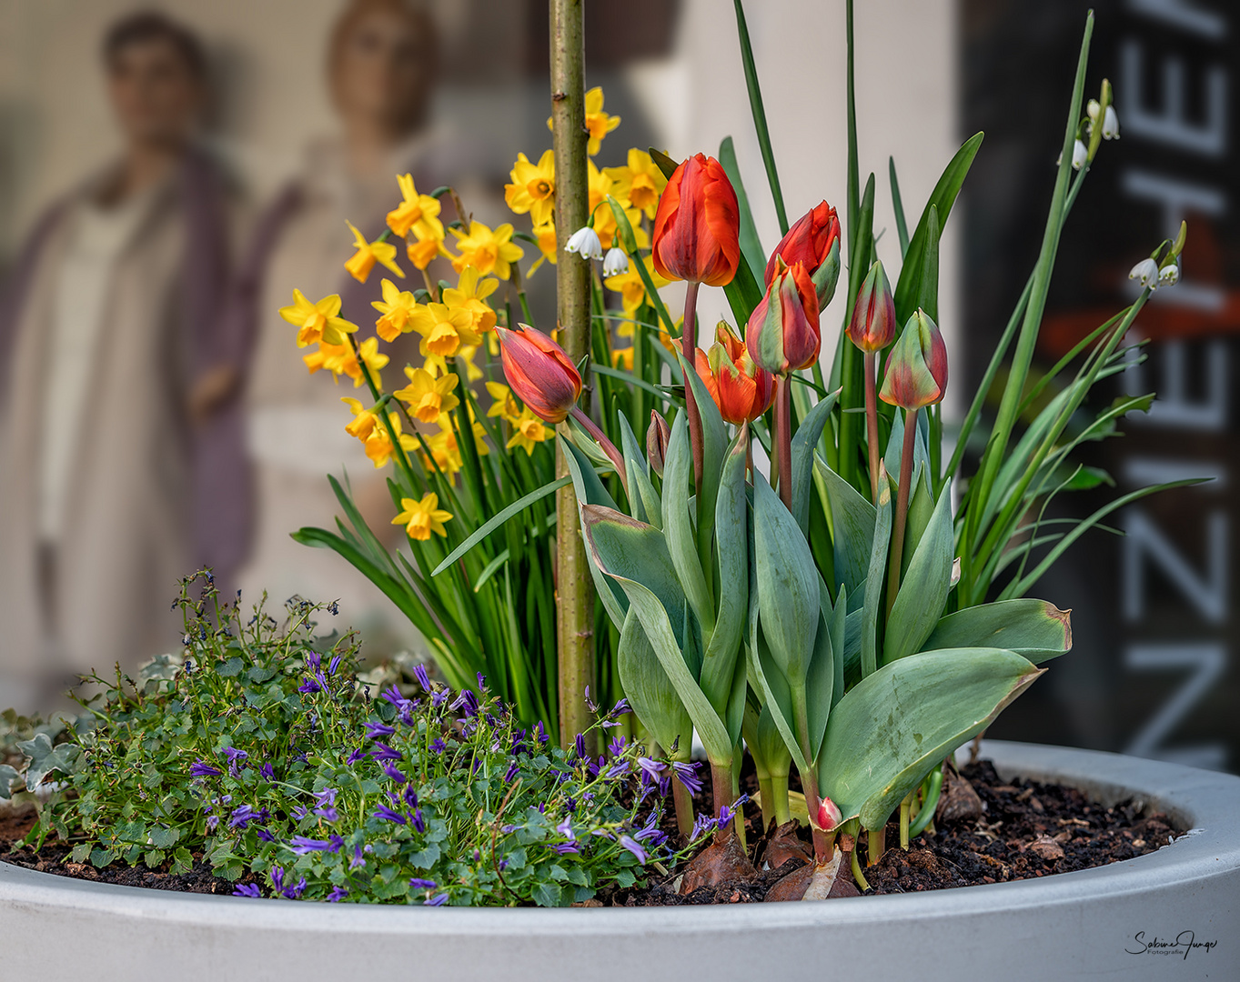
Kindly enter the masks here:
<path id="1" fill-rule="evenodd" d="M 1240 980 L 1240 779 L 1032 744 L 988 743 L 983 754 L 1004 777 L 1060 781 L 1104 803 L 1136 796 L 1194 832 L 1149 856 L 1044 879 L 693 908 L 250 900 L 0 863 L 0 978 Z"/>

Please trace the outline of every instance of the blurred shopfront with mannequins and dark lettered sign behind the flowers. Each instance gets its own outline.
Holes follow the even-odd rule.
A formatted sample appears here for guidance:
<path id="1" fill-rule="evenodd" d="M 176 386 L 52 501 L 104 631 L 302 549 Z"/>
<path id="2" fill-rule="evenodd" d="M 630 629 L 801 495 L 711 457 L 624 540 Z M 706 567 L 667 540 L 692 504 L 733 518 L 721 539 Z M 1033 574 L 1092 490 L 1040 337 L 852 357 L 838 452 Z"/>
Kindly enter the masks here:
<path id="1" fill-rule="evenodd" d="M 746 7 L 789 213 L 823 197 L 842 207 L 843 2 Z M 1074 609 L 1075 651 L 994 735 L 1235 769 L 1240 12 L 1094 7 L 1086 91 L 1112 81 L 1122 140 L 1105 145 L 1068 226 L 1039 358 L 1125 303 L 1127 270 L 1182 218 L 1189 248 L 1184 281 L 1138 320 L 1148 363 L 1121 383 L 1161 398 L 1091 451 L 1114 486 L 1061 507 L 1087 515 L 1141 484 L 1215 480 L 1116 513 L 1125 537 L 1090 533 L 1039 584 Z M 1040 246 L 1085 10 L 857 2 L 862 167 L 878 175 L 884 263 L 899 263 L 888 157 L 911 216 L 959 144 L 986 131 L 944 242 L 942 327 L 952 377 L 968 383 L 949 388 L 949 418 Z M 381 223 L 398 172 L 423 192 L 454 185 L 480 221 L 528 228 L 503 185 L 518 151 L 551 146 L 547 36 L 542 0 L 0 0 L 0 706 L 175 647 L 175 580 L 201 562 L 250 599 L 340 598 L 377 650 L 418 645 L 342 559 L 288 538 L 330 527 L 327 472 L 351 475 L 363 505 L 373 485 L 376 526 L 389 502 L 342 431 L 346 393 L 306 376 L 275 311 L 294 286 L 341 291 L 345 316 L 368 307 L 343 279 L 345 219 Z M 714 154 L 732 135 L 759 233 L 779 238 L 730 4 L 587 0 L 587 83 L 622 120 L 600 166 L 630 146 Z M 528 284 L 539 322 L 553 280 L 544 268 Z M 704 330 L 725 310 L 703 290 Z M 71 394 L 50 399 L 52 387 Z"/>

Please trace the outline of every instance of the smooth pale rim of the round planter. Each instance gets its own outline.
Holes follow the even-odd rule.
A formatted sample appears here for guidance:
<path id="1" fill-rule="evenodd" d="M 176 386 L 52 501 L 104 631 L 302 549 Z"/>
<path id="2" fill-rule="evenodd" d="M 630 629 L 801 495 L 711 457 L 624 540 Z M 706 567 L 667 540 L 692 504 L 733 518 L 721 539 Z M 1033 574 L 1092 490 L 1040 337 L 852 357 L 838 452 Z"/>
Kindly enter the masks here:
<path id="1" fill-rule="evenodd" d="M 1154 853 L 1045 878 L 915 894 L 861 896 L 839 903 L 735 904 L 677 908 L 433 908 L 326 904 L 215 896 L 72 879 L 0 863 L 0 913 L 37 905 L 133 916 L 160 924 L 247 931 L 325 931 L 366 935 L 529 936 L 697 934 L 884 921 L 939 920 L 1029 905 L 1140 894 L 1240 870 L 1240 836 L 1226 825 L 1240 816 L 1240 777 L 1179 764 L 1095 750 L 987 740 L 982 756 L 1004 777 L 1055 780 L 1104 805 L 1143 800 L 1192 831 Z"/>

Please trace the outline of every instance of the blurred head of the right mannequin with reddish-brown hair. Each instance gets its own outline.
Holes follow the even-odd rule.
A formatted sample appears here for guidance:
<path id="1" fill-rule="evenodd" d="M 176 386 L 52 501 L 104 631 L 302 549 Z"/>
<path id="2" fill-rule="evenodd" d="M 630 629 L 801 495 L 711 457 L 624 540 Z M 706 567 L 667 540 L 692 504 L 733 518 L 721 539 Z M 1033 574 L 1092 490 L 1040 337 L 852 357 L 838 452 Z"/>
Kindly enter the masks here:
<path id="1" fill-rule="evenodd" d="M 351 138 L 397 143 L 425 123 L 438 40 L 409 0 L 351 0 L 331 35 L 332 99 Z"/>

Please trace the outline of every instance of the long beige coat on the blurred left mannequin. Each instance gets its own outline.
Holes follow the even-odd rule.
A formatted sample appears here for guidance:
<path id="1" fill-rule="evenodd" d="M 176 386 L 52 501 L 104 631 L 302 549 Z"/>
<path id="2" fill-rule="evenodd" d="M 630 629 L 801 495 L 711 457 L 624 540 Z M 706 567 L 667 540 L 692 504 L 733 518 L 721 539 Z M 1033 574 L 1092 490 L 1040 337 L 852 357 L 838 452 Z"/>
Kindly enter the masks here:
<path id="1" fill-rule="evenodd" d="M 175 187 L 153 196 L 118 255 L 77 427 L 45 630 L 38 590 L 43 394 L 60 260 L 93 187 L 50 233 L 14 336 L 0 408 L 0 676 L 50 681 L 133 667 L 177 644 L 187 572 L 186 362 L 177 324 L 185 228 Z"/>

